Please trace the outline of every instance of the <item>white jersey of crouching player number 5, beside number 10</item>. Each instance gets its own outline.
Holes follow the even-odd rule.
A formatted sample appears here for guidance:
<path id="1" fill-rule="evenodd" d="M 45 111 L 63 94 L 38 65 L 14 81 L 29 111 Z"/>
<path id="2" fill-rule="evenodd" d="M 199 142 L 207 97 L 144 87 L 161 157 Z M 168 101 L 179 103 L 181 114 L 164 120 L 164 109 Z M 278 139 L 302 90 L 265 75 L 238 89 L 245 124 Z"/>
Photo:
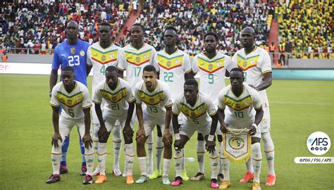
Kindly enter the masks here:
<path id="1" fill-rule="evenodd" d="M 190 106 L 187 103 L 184 95 L 179 96 L 175 100 L 173 114 L 178 115 L 181 112 L 187 118 L 187 124 L 208 127 L 208 125 L 211 125 L 212 120 L 210 116 L 216 114 L 216 108 L 208 97 L 199 92 L 194 106 Z"/>

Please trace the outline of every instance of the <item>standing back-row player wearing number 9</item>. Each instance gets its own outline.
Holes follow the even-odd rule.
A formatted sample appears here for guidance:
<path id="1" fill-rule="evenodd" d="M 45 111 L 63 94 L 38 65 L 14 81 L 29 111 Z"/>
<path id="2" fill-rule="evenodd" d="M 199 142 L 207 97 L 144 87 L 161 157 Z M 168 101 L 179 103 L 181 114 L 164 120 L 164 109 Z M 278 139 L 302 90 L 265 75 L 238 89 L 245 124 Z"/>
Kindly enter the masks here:
<path id="1" fill-rule="evenodd" d="M 218 91 L 225 87 L 225 72 L 232 68 L 236 68 L 237 65 L 232 62 L 229 56 L 224 55 L 223 53 L 217 52 L 216 48 L 219 44 L 218 35 L 214 32 L 208 32 L 204 34 L 204 52 L 199 53 L 194 57 L 192 61 L 192 71 L 194 73 L 199 72 L 201 75 L 199 81 L 199 91 L 210 97 L 213 101 L 215 108 L 218 106 Z M 220 170 L 218 174 L 218 179 L 220 181 L 223 180 L 222 174 L 222 165 L 225 164 L 225 160 L 223 159 L 223 151 L 221 149 L 221 141 L 223 141 L 223 137 L 221 136 L 221 130 L 217 129 L 216 131 L 218 137 L 218 148 L 219 148 L 219 156 L 220 156 Z M 197 141 L 197 158 L 199 162 L 199 172 L 195 177 L 192 177 L 191 180 L 197 181 L 200 179 L 204 179 L 204 138 L 202 134 L 198 134 Z"/>

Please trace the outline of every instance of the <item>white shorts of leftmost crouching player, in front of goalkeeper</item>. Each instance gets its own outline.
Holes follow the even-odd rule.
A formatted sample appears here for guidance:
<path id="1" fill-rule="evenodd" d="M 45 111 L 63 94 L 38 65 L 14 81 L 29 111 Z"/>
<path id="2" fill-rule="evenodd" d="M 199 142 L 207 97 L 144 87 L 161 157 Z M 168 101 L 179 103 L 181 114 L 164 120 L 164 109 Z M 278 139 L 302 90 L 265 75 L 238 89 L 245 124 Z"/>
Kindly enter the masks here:
<path id="1" fill-rule="evenodd" d="M 80 137 L 82 138 L 85 134 L 85 119 L 72 119 L 72 118 L 66 118 L 62 115 L 59 116 L 59 134 L 61 134 L 61 139 L 63 141 L 68 137 L 68 134 L 70 134 L 70 131 L 73 129 L 74 126 L 78 127 L 78 132 L 80 134 Z M 63 143 L 61 143 L 63 144 Z"/>

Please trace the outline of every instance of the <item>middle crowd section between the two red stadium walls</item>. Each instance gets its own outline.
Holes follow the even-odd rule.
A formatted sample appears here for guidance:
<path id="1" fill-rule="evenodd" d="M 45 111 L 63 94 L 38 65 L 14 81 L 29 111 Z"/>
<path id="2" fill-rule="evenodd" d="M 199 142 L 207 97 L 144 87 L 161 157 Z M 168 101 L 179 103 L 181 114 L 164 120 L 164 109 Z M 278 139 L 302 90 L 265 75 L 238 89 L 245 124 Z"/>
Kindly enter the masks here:
<path id="1" fill-rule="evenodd" d="M 201 39 L 206 32 L 217 32 L 220 50 L 224 53 L 241 49 L 239 33 L 245 26 L 252 26 L 258 32 L 256 45 L 268 44 L 270 25 L 266 21 L 273 15 L 274 8 L 268 4 L 252 4 L 243 1 L 216 1 L 214 3 L 145 4 L 137 23 L 145 27 L 147 43 L 162 49 L 162 33 L 166 25 L 173 25 L 180 31 L 179 48 L 194 56 L 203 49 Z M 120 42 L 120 44 L 126 44 Z"/>

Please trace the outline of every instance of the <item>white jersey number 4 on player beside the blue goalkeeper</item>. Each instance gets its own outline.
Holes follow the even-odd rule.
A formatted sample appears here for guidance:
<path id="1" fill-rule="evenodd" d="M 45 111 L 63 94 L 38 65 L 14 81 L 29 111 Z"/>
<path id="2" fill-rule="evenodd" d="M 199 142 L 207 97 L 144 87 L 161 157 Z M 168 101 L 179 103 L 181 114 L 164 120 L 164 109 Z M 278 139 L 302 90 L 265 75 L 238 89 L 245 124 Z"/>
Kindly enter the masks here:
<path id="1" fill-rule="evenodd" d="M 106 68 L 110 65 L 116 66 L 118 61 L 124 61 L 124 52 L 120 46 L 112 44 L 108 48 L 103 49 L 99 42 L 89 46 L 87 50 L 87 65 L 92 65 L 93 69 L 93 98 L 97 84 L 103 80 L 106 80 L 106 77 L 104 76 Z"/>

